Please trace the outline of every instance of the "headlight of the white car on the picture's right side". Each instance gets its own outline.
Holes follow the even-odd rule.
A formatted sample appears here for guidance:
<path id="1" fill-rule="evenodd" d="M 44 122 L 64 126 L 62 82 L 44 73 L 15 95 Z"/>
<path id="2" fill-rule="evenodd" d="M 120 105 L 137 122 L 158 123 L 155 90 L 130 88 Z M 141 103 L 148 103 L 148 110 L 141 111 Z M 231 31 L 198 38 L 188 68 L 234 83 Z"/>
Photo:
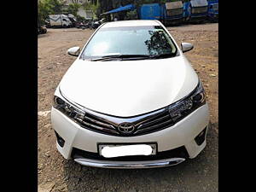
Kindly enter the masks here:
<path id="1" fill-rule="evenodd" d="M 196 86 L 189 96 L 186 96 L 183 100 L 173 103 L 169 106 L 169 113 L 174 122 L 183 119 L 189 113 L 195 111 L 196 108 L 200 108 L 206 103 L 205 90 L 202 87 L 201 81 Z"/>

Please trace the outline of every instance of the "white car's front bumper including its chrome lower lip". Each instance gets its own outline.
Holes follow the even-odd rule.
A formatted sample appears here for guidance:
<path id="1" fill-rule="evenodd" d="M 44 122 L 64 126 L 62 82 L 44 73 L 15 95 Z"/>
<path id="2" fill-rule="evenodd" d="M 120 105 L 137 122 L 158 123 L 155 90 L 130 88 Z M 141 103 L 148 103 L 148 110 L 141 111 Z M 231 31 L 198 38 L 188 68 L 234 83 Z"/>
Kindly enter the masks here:
<path id="1" fill-rule="evenodd" d="M 51 121 L 53 129 L 65 140 L 63 147 L 56 143 L 57 149 L 65 159 L 72 158 L 73 148 L 98 153 L 98 143 L 157 143 L 158 152 L 165 152 L 184 146 L 189 154 L 189 158 L 192 159 L 206 146 L 206 140 L 201 143 L 201 145 L 198 145 L 195 142 L 195 137 L 207 127 L 209 115 L 208 105 L 206 104 L 177 122 L 176 125 L 137 137 L 115 137 L 84 129 L 55 108 L 51 110 Z M 173 166 L 183 162 L 183 160 L 185 159 L 178 156 L 162 160 L 142 161 L 95 160 L 88 158 L 75 159 L 75 161 L 84 166 L 108 168 Z"/>

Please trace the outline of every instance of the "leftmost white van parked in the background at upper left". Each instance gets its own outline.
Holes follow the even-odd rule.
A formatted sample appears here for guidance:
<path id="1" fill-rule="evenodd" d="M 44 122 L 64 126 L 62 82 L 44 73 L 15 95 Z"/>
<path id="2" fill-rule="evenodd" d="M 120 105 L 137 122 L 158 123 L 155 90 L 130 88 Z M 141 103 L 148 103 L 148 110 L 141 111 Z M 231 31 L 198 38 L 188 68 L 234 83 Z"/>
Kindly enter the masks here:
<path id="1" fill-rule="evenodd" d="M 52 27 L 71 27 L 73 23 L 67 15 L 49 15 L 49 24 Z"/>

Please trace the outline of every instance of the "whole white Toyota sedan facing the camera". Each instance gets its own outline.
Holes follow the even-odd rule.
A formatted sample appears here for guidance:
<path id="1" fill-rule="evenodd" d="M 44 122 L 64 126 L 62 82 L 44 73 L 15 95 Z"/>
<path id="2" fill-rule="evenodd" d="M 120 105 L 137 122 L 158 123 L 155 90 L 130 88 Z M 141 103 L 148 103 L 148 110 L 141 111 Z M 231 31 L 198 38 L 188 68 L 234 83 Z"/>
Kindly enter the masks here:
<path id="1" fill-rule="evenodd" d="M 65 159 L 84 166 L 150 168 L 195 158 L 206 146 L 206 95 L 158 20 L 98 27 L 55 90 L 51 121 Z"/>

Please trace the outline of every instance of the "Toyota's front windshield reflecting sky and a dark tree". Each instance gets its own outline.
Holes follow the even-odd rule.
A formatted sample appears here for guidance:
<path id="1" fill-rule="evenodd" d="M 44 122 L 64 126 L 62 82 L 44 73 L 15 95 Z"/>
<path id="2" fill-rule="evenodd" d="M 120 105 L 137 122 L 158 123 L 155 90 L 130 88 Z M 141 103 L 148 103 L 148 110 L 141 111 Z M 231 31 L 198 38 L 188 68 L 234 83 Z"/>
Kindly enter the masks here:
<path id="1" fill-rule="evenodd" d="M 86 45 L 81 58 L 113 55 L 177 55 L 177 47 L 161 26 L 101 28 Z"/>

